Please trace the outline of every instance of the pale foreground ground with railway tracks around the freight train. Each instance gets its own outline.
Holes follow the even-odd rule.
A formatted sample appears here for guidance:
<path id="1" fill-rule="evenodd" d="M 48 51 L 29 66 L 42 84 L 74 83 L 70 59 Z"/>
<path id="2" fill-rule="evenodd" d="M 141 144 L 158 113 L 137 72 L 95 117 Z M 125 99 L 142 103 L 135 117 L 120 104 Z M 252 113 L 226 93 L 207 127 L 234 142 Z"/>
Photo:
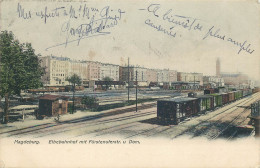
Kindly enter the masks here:
<path id="1" fill-rule="evenodd" d="M 174 140 L 179 137 L 232 140 L 247 137 L 252 129 L 242 130 L 248 125 L 251 110 L 246 108 L 260 99 L 260 93 L 246 96 L 205 114 L 186 118 L 178 125 L 162 125 L 157 120 L 157 102 L 107 110 L 99 113 L 86 113 L 79 117 L 62 116 L 59 122 L 49 118 L 38 124 L 13 124 L 2 126 L 0 137 L 67 137 L 122 139 L 164 137 Z M 240 126 L 240 127 L 239 127 Z"/>

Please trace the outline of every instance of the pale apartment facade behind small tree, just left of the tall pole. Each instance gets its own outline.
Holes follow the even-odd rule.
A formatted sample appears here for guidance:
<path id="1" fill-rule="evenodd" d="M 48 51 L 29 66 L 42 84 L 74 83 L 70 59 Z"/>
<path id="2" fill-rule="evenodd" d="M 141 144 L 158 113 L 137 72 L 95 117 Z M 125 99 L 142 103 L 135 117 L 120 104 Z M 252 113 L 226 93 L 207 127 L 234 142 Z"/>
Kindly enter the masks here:
<path id="1" fill-rule="evenodd" d="M 100 80 L 105 77 L 112 78 L 113 81 L 119 81 L 119 65 L 101 64 L 100 66 Z"/>

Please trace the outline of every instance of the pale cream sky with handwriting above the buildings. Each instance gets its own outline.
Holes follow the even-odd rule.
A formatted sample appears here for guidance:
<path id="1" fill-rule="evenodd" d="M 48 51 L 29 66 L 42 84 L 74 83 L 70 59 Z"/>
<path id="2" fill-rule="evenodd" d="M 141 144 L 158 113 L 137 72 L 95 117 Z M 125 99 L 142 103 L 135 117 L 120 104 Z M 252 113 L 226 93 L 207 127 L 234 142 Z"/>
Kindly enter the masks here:
<path id="1" fill-rule="evenodd" d="M 41 17 L 45 11 L 55 16 L 45 22 L 45 15 Z M 84 36 L 78 43 L 77 28 L 89 26 L 92 16 L 93 29 L 101 20 L 112 26 Z M 255 1 L 3 1 L 0 19 L 1 30 L 12 31 L 43 56 L 118 65 L 125 65 L 129 57 L 132 65 L 204 75 L 215 75 L 216 59 L 220 58 L 222 72 L 260 77 L 260 10 Z M 184 28 L 177 21 L 194 24 Z M 244 49 L 250 44 L 250 50 L 239 52 L 236 42 L 245 42 Z"/>

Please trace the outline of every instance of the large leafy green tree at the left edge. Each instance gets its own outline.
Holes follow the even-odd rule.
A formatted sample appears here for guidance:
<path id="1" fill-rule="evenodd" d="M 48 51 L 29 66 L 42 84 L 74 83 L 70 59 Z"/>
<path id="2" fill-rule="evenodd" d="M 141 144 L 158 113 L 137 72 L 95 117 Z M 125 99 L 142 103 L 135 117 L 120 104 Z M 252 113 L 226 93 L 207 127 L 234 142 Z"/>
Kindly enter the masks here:
<path id="1" fill-rule="evenodd" d="M 30 43 L 20 44 L 12 32 L 0 33 L 0 96 L 5 98 L 3 123 L 9 120 L 9 97 L 42 86 L 44 68 Z"/>

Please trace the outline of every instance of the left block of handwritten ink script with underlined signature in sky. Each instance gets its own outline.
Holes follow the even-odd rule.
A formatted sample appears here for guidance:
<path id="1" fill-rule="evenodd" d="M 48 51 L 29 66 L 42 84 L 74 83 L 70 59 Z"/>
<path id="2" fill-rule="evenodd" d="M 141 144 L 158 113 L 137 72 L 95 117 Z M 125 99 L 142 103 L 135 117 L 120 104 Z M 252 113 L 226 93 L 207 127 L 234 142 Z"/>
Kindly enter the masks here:
<path id="1" fill-rule="evenodd" d="M 39 18 L 44 24 L 48 24 L 49 19 L 66 18 L 60 28 L 65 34 L 65 42 L 55 44 L 46 50 L 58 46 L 67 46 L 69 43 L 80 44 L 82 39 L 110 34 L 109 29 L 117 26 L 125 14 L 121 9 L 113 9 L 110 6 L 102 8 L 89 7 L 87 4 L 69 7 L 60 6 L 48 8 L 45 6 L 38 11 L 24 9 L 20 3 L 17 6 L 18 17 L 22 19 Z M 72 24 L 74 20 L 80 20 L 80 24 Z"/>

